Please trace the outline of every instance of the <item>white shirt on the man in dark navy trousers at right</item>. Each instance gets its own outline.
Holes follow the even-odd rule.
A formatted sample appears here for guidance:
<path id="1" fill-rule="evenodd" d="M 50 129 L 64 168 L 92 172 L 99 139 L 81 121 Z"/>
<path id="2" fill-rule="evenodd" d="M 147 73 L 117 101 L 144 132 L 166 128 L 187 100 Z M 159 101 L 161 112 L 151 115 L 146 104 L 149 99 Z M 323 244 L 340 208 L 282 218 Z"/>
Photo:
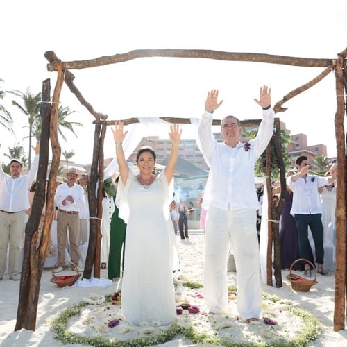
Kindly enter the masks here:
<path id="1" fill-rule="evenodd" d="M 290 214 L 319 214 L 322 212 L 321 197 L 318 188 L 328 185 L 328 177 L 308 175 L 306 179 L 299 177 L 295 182 L 291 176 L 287 178 L 287 185 L 293 192 L 293 204 Z"/>

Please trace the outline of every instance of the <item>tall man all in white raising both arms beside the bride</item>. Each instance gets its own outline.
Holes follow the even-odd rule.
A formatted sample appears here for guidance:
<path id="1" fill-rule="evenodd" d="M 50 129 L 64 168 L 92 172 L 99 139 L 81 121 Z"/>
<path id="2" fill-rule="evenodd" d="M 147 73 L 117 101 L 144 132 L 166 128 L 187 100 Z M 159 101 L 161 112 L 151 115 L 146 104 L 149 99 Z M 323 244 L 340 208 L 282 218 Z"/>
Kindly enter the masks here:
<path id="1" fill-rule="evenodd" d="M 198 125 L 198 137 L 210 174 L 205 187 L 203 208 L 205 223 L 205 303 L 210 312 L 219 313 L 228 306 L 226 281 L 230 242 L 237 267 L 237 309 L 247 323 L 259 319 L 262 307 L 259 246 L 256 229 L 254 166 L 273 135 L 271 90 L 260 88 L 263 118 L 255 139 L 242 144 L 242 128 L 234 116 L 221 121 L 219 143 L 212 134 L 212 113 L 218 102 L 218 90 L 211 90 L 205 112 Z"/>

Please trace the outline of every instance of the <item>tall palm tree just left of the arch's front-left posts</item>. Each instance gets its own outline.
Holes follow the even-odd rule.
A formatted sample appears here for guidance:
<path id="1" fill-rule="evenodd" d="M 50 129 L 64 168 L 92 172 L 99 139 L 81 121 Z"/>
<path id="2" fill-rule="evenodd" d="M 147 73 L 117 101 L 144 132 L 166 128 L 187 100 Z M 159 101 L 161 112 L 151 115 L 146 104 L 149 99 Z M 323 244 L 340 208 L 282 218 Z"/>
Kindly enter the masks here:
<path id="1" fill-rule="evenodd" d="M 28 158 L 28 167 L 31 167 L 31 137 L 33 136 L 33 124 L 35 119 L 40 118 L 40 104 L 41 104 L 41 93 L 31 94 L 31 90 L 28 87 L 26 93 L 17 91 L 18 96 L 22 99 L 23 104 L 17 103 L 17 101 L 12 100 L 12 105 L 17 106 L 24 115 L 28 117 L 29 121 L 29 158 Z"/>

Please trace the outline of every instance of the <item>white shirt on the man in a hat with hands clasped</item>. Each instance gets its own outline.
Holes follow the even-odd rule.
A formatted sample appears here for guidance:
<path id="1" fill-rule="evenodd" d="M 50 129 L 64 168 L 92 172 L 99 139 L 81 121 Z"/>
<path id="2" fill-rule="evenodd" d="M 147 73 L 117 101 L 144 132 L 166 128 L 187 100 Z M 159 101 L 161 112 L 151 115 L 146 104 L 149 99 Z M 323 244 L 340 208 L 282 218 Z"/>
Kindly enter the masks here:
<path id="1" fill-rule="evenodd" d="M 71 195 L 74 198 L 74 202 L 67 201 L 66 205 L 62 205 L 62 201 L 68 196 Z M 56 190 L 56 195 L 54 196 L 54 203 L 60 210 L 64 211 L 75 211 L 79 212 L 85 205 L 85 194 L 81 185 L 74 184 L 72 187 L 69 187 L 67 183 L 62 183 L 58 185 Z"/>

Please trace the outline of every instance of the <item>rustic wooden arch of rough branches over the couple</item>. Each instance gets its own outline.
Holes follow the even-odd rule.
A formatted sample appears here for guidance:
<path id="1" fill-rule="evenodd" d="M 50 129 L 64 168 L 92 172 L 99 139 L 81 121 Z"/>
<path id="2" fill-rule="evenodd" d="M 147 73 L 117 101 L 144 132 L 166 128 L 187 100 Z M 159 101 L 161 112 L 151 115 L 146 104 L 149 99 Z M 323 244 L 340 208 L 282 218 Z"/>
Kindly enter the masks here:
<path id="1" fill-rule="evenodd" d="M 345 310 L 346 310 L 346 142 L 344 132 L 344 115 L 346 112 L 346 89 L 347 89 L 347 72 L 346 72 L 346 57 L 347 49 L 337 55 L 335 59 L 316 59 L 316 58 L 297 58 L 290 56 L 275 56 L 260 53 L 231 53 L 223 51 L 210 51 L 210 50 L 185 50 L 185 49 L 140 49 L 130 51 L 123 54 L 115 54 L 114 56 L 103 56 L 90 60 L 79 60 L 71 62 L 63 62 L 60 60 L 53 51 L 47 51 L 44 56 L 48 60 L 48 71 L 55 71 L 57 73 L 56 86 L 53 92 L 53 99 L 51 100 L 51 86 L 50 81 L 46 80 L 42 84 L 42 107 L 40 110 L 42 116 L 42 137 L 40 146 L 40 162 L 39 171 L 37 174 L 37 191 L 34 198 L 33 210 L 31 217 L 26 226 L 26 239 L 24 244 L 24 260 L 22 267 L 22 278 L 20 282 L 19 291 L 19 305 L 17 311 L 17 323 L 15 330 L 25 328 L 27 330 L 35 330 L 38 294 L 40 290 L 40 278 L 42 276 L 42 269 L 45 260 L 46 249 L 49 244 L 51 223 L 53 219 L 53 192 L 55 178 L 58 172 L 60 162 L 61 148 L 58 142 L 58 103 L 60 99 L 60 92 L 62 84 L 65 82 L 71 92 L 76 96 L 81 105 L 87 108 L 88 112 L 94 116 L 94 149 L 92 157 L 92 170 L 90 175 L 90 184 L 88 191 L 90 196 L 90 246 L 87 252 L 87 260 L 85 264 L 85 271 L 83 278 L 90 278 L 92 267 L 94 266 L 94 276 L 100 277 L 100 266 L 97 266 L 99 259 L 98 254 L 100 249 L 97 245 L 100 244 L 100 221 L 101 221 L 101 189 L 99 185 L 98 197 L 96 198 L 96 182 L 103 181 L 103 139 L 105 137 L 105 129 L 109 124 L 115 124 L 115 121 L 108 121 L 107 116 L 100 112 L 96 112 L 92 105 L 88 103 L 81 92 L 74 84 L 74 75 L 71 73 L 72 69 L 85 69 L 90 67 L 100 67 L 103 65 L 116 64 L 119 62 L 126 62 L 137 58 L 144 57 L 171 57 L 171 58 L 206 58 L 214 60 L 228 60 L 228 61 L 243 61 L 243 62 L 264 62 L 269 64 L 291 65 L 297 67 L 322 67 L 324 68 L 319 76 L 316 76 L 312 81 L 308 81 L 304 85 L 297 87 L 295 90 L 288 92 L 282 100 L 278 101 L 273 109 L 275 112 L 284 112 L 287 110 L 282 105 L 292 99 L 294 96 L 301 94 L 308 88 L 316 83 L 319 83 L 331 71 L 335 71 L 335 85 L 337 96 L 337 110 L 335 113 L 335 137 L 337 144 L 337 212 L 336 212 L 336 237 L 337 237 L 337 260 L 335 270 L 335 312 L 334 312 L 334 330 L 344 329 Z M 176 123 L 189 122 L 188 119 L 179 118 L 164 118 L 164 120 Z M 138 122 L 137 118 L 124 119 L 125 124 Z M 219 121 L 214 121 L 214 124 L 219 124 Z M 277 130 L 279 127 L 276 126 Z M 277 132 L 279 133 L 279 132 Z M 274 138 L 276 143 L 276 137 Z M 45 182 L 48 165 L 49 142 L 51 142 L 51 149 L 53 158 L 51 160 L 51 169 L 49 171 L 49 184 L 45 196 Z M 269 146 L 266 150 L 267 158 L 270 158 Z M 269 163 L 270 160 L 267 160 Z M 269 167 L 268 167 L 269 170 Z M 281 170 L 281 183 L 282 189 L 285 189 L 284 166 Z M 268 172 L 266 172 L 267 176 Z M 269 189 L 269 180 L 267 186 Z M 285 192 L 281 193 L 281 200 Z M 269 194 L 271 197 L 271 194 Z M 42 241 L 38 248 L 36 248 L 37 228 L 38 221 L 42 212 L 42 207 L 46 201 L 46 221 L 44 223 L 44 230 L 42 232 Z M 269 203 L 269 217 L 279 217 L 282 210 L 281 205 L 271 206 Z M 272 245 L 272 228 L 276 226 L 271 225 L 269 222 L 269 244 Z M 271 248 L 271 246 L 270 246 Z M 271 254 L 268 250 L 268 255 Z M 100 261 L 100 259 L 99 259 Z M 268 261 L 268 285 L 269 273 L 271 274 L 271 257 Z M 275 273 L 276 276 L 276 273 Z M 271 277 L 270 277 L 271 278 Z M 276 285 L 277 279 L 276 278 Z"/>

